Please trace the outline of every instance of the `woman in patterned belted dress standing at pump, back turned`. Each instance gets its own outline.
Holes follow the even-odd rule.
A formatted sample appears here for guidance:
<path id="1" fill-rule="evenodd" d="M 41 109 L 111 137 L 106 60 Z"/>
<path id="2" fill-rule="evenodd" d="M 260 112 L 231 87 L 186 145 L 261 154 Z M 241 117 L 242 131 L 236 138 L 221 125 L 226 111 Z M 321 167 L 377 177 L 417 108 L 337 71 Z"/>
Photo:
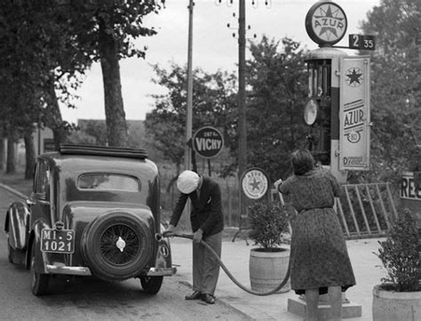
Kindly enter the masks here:
<path id="1" fill-rule="evenodd" d="M 307 149 L 295 151 L 291 163 L 294 175 L 275 182 L 298 213 L 292 221 L 291 288 L 306 294 L 306 321 L 317 321 L 319 294 L 325 293 L 330 297 L 331 320 L 342 320 L 342 292 L 355 285 L 355 278 L 333 210 L 340 186 L 330 172 L 315 167 Z"/>

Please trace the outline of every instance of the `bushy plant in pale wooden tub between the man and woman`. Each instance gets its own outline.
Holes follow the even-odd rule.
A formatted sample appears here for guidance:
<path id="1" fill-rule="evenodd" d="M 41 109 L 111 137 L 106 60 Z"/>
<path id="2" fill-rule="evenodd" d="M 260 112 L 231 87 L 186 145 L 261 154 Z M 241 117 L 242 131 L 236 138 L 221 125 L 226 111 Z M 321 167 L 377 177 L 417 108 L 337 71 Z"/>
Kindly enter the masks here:
<path id="1" fill-rule="evenodd" d="M 288 230 L 288 213 L 275 202 L 249 206 L 249 237 L 258 247 L 250 249 L 251 290 L 268 292 L 280 285 L 287 274 L 290 249 L 281 247 Z M 288 282 L 279 292 L 290 290 Z"/>

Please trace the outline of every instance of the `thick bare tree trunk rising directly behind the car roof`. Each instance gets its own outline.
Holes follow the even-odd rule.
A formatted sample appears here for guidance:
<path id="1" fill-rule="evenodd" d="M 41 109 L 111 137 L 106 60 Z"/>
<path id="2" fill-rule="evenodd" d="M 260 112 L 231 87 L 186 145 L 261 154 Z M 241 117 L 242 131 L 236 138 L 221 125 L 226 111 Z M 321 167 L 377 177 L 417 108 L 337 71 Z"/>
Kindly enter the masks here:
<path id="1" fill-rule="evenodd" d="M 99 55 L 104 83 L 104 101 L 109 146 L 127 146 L 127 124 L 123 107 L 117 44 L 105 21 L 99 18 Z"/>

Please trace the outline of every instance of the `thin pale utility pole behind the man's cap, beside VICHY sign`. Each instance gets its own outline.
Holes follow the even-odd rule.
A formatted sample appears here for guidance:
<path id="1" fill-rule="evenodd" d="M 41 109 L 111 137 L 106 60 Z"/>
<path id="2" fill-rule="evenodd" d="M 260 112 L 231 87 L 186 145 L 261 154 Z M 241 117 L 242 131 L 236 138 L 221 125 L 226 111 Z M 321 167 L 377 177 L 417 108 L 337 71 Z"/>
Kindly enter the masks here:
<path id="1" fill-rule="evenodd" d="M 188 54 L 187 54 L 187 113 L 186 113 L 186 149 L 184 152 L 184 169 L 191 168 L 192 149 L 190 140 L 192 139 L 192 114 L 193 114 L 193 0 L 188 4 Z"/>

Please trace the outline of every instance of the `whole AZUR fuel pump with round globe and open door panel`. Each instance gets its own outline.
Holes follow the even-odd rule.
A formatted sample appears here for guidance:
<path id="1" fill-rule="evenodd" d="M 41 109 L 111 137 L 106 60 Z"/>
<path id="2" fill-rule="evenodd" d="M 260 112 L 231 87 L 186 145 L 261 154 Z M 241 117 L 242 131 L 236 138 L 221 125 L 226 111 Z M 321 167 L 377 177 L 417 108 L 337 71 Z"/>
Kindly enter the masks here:
<path id="1" fill-rule="evenodd" d="M 333 47 L 346 28 L 346 14 L 334 2 L 319 1 L 307 12 L 307 34 L 320 47 L 306 56 L 308 146 L 342 183 L 348 171 L 369 169 L 369 57 Z"/>

